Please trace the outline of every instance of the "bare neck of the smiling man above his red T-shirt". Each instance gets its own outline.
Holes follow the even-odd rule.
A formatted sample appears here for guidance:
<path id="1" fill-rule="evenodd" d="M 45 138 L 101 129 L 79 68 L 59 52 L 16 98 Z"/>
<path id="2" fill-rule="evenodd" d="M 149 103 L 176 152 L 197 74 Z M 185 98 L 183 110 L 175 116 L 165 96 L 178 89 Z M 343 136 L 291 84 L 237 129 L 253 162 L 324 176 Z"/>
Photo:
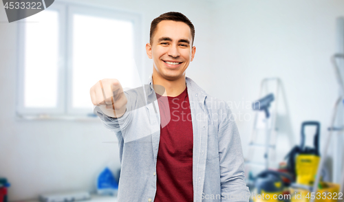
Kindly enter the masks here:
<path id="1" fill-rule="evenodd" d="M 165 93 L 162 96 L 169 96 L 175 97 L 179 96 L 186 88 L 186 79 L 185 76 L 178 78 L 178 80 L 166 80 L 164 78 L 160 78 L 159 76 L 155 76 L 153 74 L 153 85 L 160 85 L 164 87 Z"/>

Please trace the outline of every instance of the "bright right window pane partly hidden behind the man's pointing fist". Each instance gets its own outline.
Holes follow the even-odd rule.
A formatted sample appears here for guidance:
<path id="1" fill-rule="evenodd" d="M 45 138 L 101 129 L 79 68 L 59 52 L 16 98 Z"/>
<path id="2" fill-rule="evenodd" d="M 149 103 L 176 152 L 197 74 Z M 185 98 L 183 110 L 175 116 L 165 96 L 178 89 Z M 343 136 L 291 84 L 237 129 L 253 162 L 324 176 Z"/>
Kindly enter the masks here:
<path id="1" fill-rule="evenodd" d="M 133 86 L 133 24 L 97 16 L 73 17 L 72 107 L 89 108 L 89 89 L 103 78 Z"/>

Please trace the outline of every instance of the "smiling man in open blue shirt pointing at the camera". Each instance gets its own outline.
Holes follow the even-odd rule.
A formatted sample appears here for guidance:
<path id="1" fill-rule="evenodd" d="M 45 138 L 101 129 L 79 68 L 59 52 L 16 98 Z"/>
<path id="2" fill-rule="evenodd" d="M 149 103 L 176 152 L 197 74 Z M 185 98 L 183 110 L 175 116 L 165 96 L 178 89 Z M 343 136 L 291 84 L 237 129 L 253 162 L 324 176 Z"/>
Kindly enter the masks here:
<path id="1" fill-rule="evenodd" d="M 248 201 L 244 158 L 228 105 L 185 76 L 195 28 L 179 12 L 151 22 L 149 85 L 123 93 L 116 79 L 91 89 L 94 113 L 116 132 L 118 201 Z"/>

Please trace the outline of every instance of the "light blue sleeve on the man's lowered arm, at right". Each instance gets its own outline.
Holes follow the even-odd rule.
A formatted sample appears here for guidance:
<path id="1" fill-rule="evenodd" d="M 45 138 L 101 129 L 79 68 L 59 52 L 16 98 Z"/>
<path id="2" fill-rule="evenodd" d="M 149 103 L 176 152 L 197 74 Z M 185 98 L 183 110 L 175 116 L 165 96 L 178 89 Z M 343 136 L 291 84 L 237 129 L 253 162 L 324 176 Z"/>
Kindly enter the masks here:
<path id="1" fill-rule="evenodd" d="M 250 191 L 245 183 L 240 135 L 229 106 L 226 108 L 218 133 L 221 192 L 227 196 L 222 201 L 249 201 Z"/>

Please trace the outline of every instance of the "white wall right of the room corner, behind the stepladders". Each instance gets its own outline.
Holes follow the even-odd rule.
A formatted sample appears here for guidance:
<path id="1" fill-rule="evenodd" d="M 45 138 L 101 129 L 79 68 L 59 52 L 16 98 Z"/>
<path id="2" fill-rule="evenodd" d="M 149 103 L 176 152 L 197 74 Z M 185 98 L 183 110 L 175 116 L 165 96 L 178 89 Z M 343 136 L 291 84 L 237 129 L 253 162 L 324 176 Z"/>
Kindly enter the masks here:
<path id="1" fill-rule="evenodd" d="M 212 13 L 211 66 L 217 82 L 211 93 L 233 102 L 257 100 L 261 80 L 279 77 L 294 144 L 305 120 L 321 122 L 321 136 L 327 135 L 338 96 L 330 57 L 337 50 L 336 17 L 344 16 L 344 1 L 216 1 Z M 240 107 L 233 113 L 253 115 Z M 246 154 L 253 122 L 237 124 Z M 290 150 L 288 134 L 281 135 L 279 157 Z"/>

